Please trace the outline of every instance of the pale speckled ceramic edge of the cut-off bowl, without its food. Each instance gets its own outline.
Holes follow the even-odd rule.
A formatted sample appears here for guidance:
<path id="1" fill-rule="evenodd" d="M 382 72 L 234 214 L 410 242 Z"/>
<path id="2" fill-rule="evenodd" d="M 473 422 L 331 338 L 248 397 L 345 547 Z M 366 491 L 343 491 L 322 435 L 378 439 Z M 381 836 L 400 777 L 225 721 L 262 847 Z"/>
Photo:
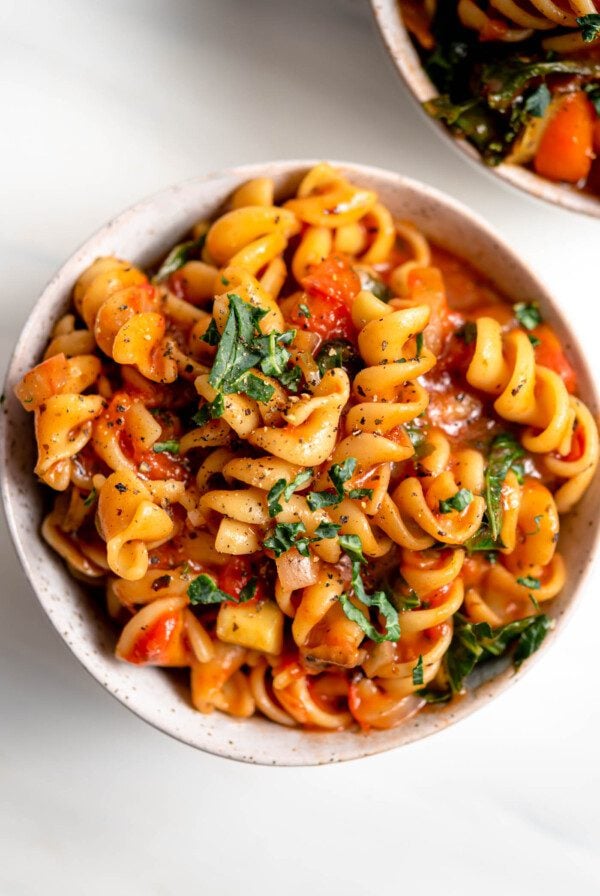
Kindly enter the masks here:
<path id="1" fill-rule="evenodd" d="M 404 27 L 398 0 L 370 0 L 370 2 L 392 62 L 421 108 L 422 103 L 437 96 L 438 92 L 421 65 L 419 54 Z M 537 199 L 543 199 L 573 212 L 600 218 L 600 199 L 582 193 L 569 184 L 552 183 L 520 165 L 502 164 L 491 168 L 482 161 L 475 147 L 467 140 L 455 137 L 443 122 L 431 118 L 425 111 L 423 115 L 447 143 L 464 153 L 478 168 L 492 177 L 499 177 Z"/>

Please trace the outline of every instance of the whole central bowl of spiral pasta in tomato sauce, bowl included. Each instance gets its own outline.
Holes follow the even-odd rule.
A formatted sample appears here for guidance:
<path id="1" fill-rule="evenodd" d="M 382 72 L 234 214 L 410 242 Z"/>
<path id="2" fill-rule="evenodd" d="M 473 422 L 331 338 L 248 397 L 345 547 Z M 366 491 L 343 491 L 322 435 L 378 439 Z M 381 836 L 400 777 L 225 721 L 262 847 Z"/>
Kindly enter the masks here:
<path id="1" fill-rule="evenodd" d="M 50 282 L 8 373 L 4 502 L 130 709 L 333 762 L 446 728 L 551 642 L 597 537 L 595 409 L 550 294 L 463 206 L 251 165 L 141 202 Z"/>

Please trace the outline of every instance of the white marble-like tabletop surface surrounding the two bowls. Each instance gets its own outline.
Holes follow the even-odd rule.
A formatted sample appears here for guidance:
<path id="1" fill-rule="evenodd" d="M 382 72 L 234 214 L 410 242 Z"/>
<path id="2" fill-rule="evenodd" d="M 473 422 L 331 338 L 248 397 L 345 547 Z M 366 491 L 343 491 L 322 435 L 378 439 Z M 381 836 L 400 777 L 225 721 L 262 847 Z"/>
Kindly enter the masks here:
<path id="1" fill-rule="evenodd" d="M 447 150 L 361 0 L 3 0 L 3 368 L 59 264 L 167 184 L 320 156 L 485 215 L 568 308 L 596 373 L 598 221 Z M 517 687 L 433 739 L 321 769 L 205 756 L 131 715 L 0 547 L 0 896 L 600 892 L 598 576 Z"/>

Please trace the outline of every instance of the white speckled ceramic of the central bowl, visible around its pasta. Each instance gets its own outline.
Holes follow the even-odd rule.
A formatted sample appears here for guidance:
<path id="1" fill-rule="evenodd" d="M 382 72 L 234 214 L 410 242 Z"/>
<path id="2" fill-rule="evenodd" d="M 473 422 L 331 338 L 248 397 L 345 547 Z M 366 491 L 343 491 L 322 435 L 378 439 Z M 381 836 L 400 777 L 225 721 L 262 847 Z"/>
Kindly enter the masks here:
<path id="1" fill-rule="evenodd" d="M 201 715 L 192 709 L 181 676 L 129 666 L 113 657 L 116 633 L 102 601 L 69 575 L 62 560 L 41 539 L 45 495 L 32 473 L 32 421 L 14 398 L 13 387 L 41 358 L 50 323 L 66 310 L 77 277 L 97 256 L 118 255 L 144 266 L 176 243 L 196 220 L 213 215 L 243 181 L 259 175 L 273 177 L 278 191 L 285 195 L 313 164 L 285 161 L 248 165 L 170 187 L 119 215 L 88 240 L 48 284 L 17 343 L 5 387 L 0 439 L 6 514 L 23 568 L 45 612 L 86 669 L 125 706 L 167 734 L 210 753 L 267 765 L 317 765 L 357 759 L 426 737 L 487 703 L 516 681 L 532 661 L 517 674 L 502 663 L 487 666 L 477 686 L 456 705 L 427 708 L 392 731 L 307 733 L 259 717 L 235 721 L 218 712 Z M 436 190 L 393 172 L 334 164 L 357 183 L 377 190 L 395 215 L 413 220 L 434 241 L 467 257 L 508 296 L 515 300 L 538 299 L 575 363 L 583 398 L 597 407 L 577 342 L 546 288 L 480 218 Z M 596 542 L 599 503 L 596 479 L 578 510 L 564 521 L 561 547 L 569 568 L 569 586 L 550 608 L 558 625 L 536 657 L 552 643 L 577 599 Z"/>

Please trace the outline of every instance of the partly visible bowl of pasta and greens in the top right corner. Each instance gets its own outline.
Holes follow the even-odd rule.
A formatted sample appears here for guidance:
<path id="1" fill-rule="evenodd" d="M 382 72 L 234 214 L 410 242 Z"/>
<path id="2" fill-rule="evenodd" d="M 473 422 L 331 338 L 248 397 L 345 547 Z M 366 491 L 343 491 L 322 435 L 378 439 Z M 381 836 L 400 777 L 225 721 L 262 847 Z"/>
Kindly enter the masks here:
<path id="1" fill-rule="evenodd" d="M 371 0 L 389 55 L 448 142 L 505 182 L 600 216 L 596 0 Z"/>

